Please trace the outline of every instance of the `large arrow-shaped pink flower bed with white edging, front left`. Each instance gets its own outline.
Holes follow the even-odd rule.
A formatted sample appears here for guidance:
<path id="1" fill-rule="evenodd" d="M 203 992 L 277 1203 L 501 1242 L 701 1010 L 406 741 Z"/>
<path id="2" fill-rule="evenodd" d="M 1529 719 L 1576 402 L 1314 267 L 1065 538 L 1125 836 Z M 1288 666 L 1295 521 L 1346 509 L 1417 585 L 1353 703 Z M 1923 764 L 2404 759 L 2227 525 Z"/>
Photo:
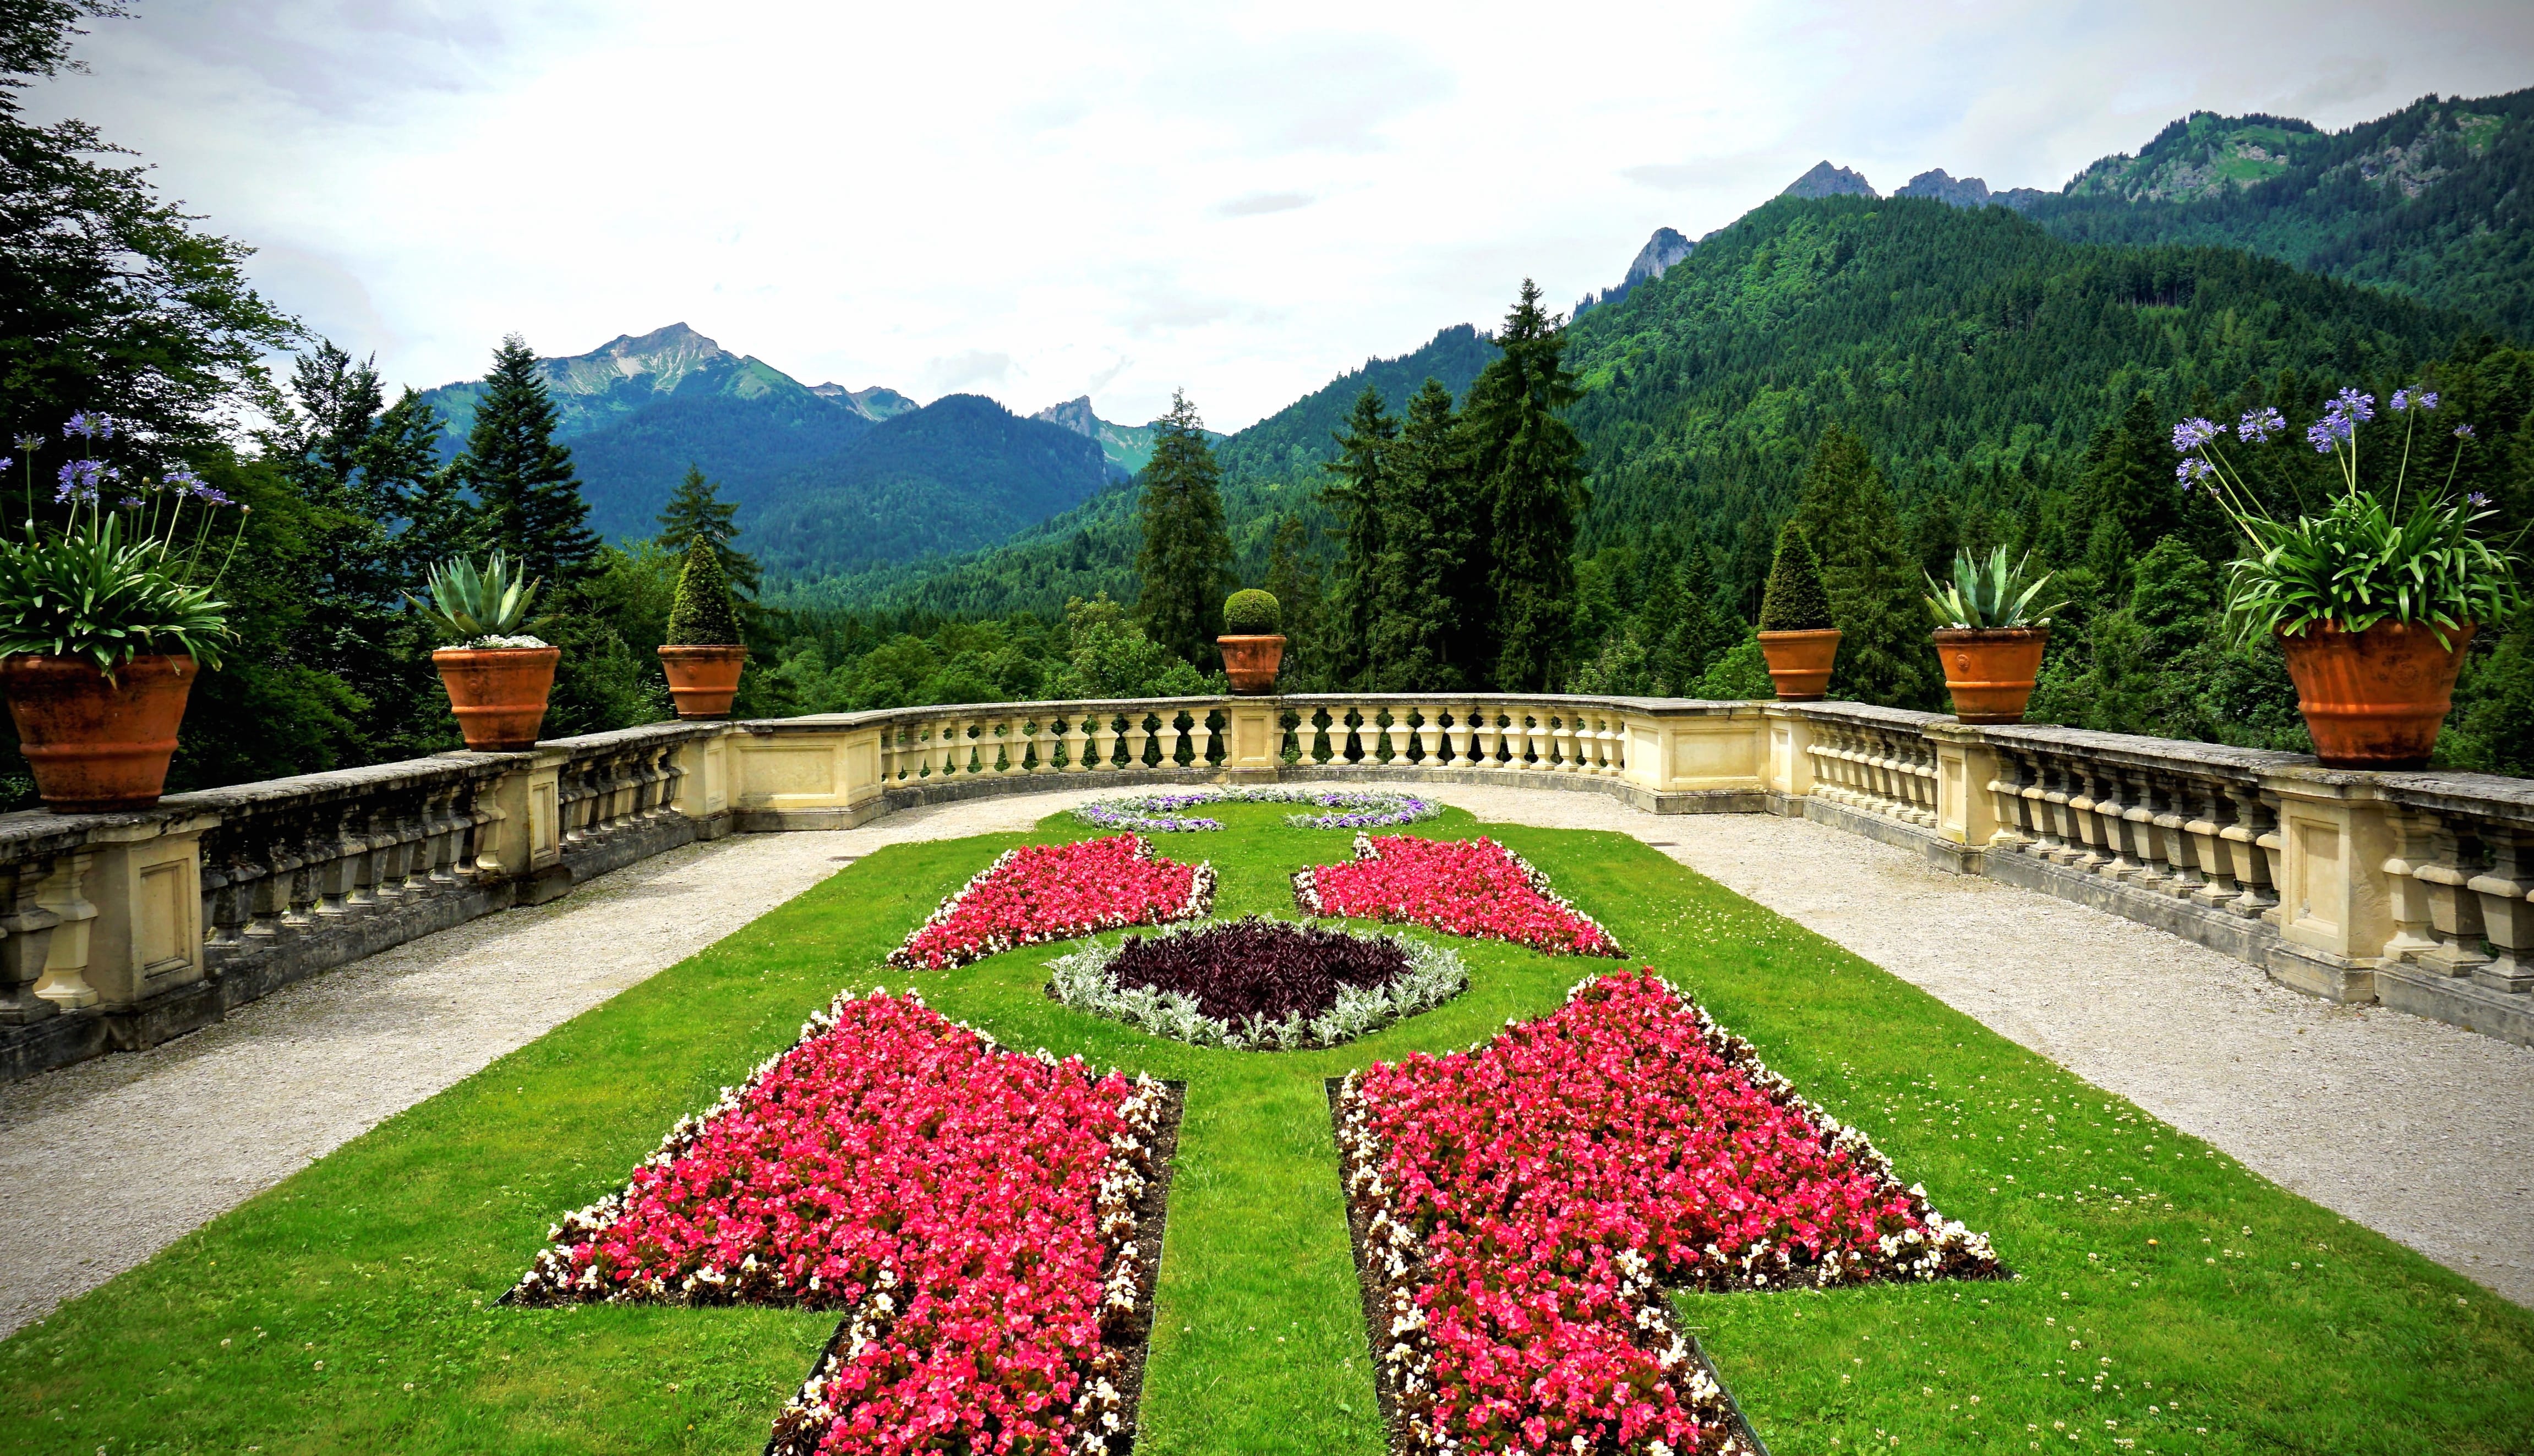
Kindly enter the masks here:
<path id="1" fill-rule="evenodd" d="M 1150 1079 L 1019 1056 L 920 998 L 839 995 L 570 1213 L 512 1302 L 846 1309 L 775 1448 L 1125 1448 Z"/>

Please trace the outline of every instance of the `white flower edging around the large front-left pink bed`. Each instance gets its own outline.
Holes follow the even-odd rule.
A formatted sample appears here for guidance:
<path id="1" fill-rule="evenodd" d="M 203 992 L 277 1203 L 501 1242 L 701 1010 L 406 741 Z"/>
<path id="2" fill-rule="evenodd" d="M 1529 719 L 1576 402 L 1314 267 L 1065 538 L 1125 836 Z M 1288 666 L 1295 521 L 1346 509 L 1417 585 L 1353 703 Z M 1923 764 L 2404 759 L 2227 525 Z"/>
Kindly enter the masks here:
<path id="1" fill-rule="evenodd" d="M 887 985 L 874 985 L 872 995 L 892 995 Z M 902 1000 L 925 1005 L 925 995 L 917 988 L 907 988 Z M 811 1013 L 801 1023 L 801 1036 L 791 1046 L 760 1061 L 748 1079 L 737 1086 L 725 1086 L 722 1094 L 704 1112 L 689 1112 L 677 1119 L 669 1137 L 661 1139 L 651 1157 L 644 1157 L 639 1167 L 659 1167 L 684 1157 L 694 1142 L 704 1134 L 704 1127 L 727 1112 L 737 1112 L 740 1101 L 760 1081 L 765 1081 L 775 1066 L 791 1053 L 801 1051 L 811 1038 L 836 1031 L 844 1020 L 844 1008 L 859 1000 L 856 993 L 841 990 L 824 1010 Z M 930 1008 L 925 1008 L 930 1010 Z M 948 1018 L 945 1018 L 948 1020 Z M 968 1026 L 965 1020 L 950 1020 L 958 1031 L 965 1031 L 986 1043 L 986 1051 L 1006 1051 L 991 1031 Z M 1064 1061 L 1082 1061 L 1079 1056 L 1064 1056 L 1036 1048 L 1031 1056 L 1049 1066 Z M 1085 1071 L 1092 1074 L 1085 1061 Z M 1123 1076 L 1123 1069 L 1112 1069 Z M 1100 1076 L 1100 1074 L 1095 1074 Z M 1161 1117 L 1168 1109 L 1171 1089 L 1156 1081 L 1150 1074 L 1138 1071 L 1135 1084 L 1128 1089 L 1125 1099 L 1117 1104 L 1117 1117 L 1125 1122 L 1125 1132 L 1110 1145 L 1107 1162 L 1100 1170 L 1100 1241 L 1107 1246 L 1102 1264 L 1107 1274 L 1100 1281 L 1100 1332 L 1107 1332 L 1135 1314 L 1135 1299 L 1143 1291 L 1145 1261 L 1138 1238 L 1143 1236 L 1143 1223 L 1135 1215 L 1135 1205 L 1143 1203 L 1145 1188 L 1161 1175 L 1153 1165 L 1153 1134 L 1161 1129 Z M 578 1279 L 573 1276 L 570 1248 L 578 1248 L 601 1233 L 623 1213 L 626 1203 L 634 1198 L 634 1180 L 606 1198 L 565 1213 L 563 1221 L 545 1231 L 547 1248 L 537 1251 L 537 1258 L 519 1276 L 519 1284 L 504 1294 L 509 1304 L 732 1304 L 753 1294 L 773 1294 L 773 1276 L 758 1269 L 755 1253 L 745 1258 L 740 1269 L 697 1269 L 679 1284 L 666 1279 L 636 1279 L 606 1294 L 598 1294 L 598 1269 L 585 1269 Z M 844 1350 L 826 1355 L 808 1380 L 783 1403 L 775 1413 L 775 1436 L 783 1431 L 826 1431 L 841 1413 L 839 1405 L 826 1400 L 829 1383 L 854 1360 L 872 1340 L 887 1332 L 897 1317 L 897 1302 L 889 1289 L 897 1286 L 897 1274 L 887 1266 L 874 1276 L 874 1289 L 859 1304 L 854 1304 L 846 1324 Z M 811 1276 L 811 1291 L 818 1289 L 818 1276 Z M 1092 1370 L 1082 1383 L 1082 1395 L 1074 1400 L 1074 1423 L 1079 1436 L 1074 1443 L 1077 1456 L 1102 1456 L 1110 1448 L 1112 1436 L 1123 1436 L 1130 1428 L 1125 1393 L 1117 1390 L 1107 1372 Z"/>

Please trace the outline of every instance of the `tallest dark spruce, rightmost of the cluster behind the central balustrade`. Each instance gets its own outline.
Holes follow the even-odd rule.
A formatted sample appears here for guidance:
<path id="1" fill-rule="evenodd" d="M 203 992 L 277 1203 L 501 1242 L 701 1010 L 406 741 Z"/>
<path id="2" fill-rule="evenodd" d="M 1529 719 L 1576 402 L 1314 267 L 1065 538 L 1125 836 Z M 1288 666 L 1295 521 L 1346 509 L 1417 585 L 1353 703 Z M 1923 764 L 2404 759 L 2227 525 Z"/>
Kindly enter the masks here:
<path id="1" fill-rule="evenodd" d="M 1576 519 L 1586 506 L 1584 441 L 1561 410 L 1576 403 L 1566 322 L 1523 291 L 1495 337 L 1503 349 L 1470 385 L 1462 428 L 1487 499 L 1487 577 L 1495 582 L 1493 686 L 1546 691 L 1566 679 L 1574 625 Z"/>

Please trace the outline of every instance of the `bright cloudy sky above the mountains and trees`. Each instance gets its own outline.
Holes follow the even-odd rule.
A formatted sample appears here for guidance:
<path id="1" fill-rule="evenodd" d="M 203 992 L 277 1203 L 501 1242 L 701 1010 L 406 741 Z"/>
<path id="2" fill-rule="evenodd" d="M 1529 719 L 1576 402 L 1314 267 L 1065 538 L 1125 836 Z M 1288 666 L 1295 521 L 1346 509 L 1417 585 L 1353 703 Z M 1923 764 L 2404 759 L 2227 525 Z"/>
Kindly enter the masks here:
<path id="1" fill-rule="evenodd" d="M 81 116 L 390 382 L 684 322 L 801 382 L 1247 425 L 1830 160 L 2058 187 L 2194 109 L 2534 84 L 2524 0 L 134 0 Z"/>

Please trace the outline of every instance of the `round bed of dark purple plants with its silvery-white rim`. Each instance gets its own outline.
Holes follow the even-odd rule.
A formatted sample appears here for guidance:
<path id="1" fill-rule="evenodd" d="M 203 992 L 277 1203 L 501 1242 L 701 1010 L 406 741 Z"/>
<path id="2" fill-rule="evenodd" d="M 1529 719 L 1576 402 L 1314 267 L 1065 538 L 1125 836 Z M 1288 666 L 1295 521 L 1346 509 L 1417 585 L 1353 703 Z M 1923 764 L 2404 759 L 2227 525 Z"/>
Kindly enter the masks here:
<path id="1" fill-rule="evenodd" d="M 1437 945 L 1282 919 L 1092 942 L 1049 962 L 1057 1000 L 1196 1046 L 1295 1051 L 1353 1041 L 1470 985 Z"/>

